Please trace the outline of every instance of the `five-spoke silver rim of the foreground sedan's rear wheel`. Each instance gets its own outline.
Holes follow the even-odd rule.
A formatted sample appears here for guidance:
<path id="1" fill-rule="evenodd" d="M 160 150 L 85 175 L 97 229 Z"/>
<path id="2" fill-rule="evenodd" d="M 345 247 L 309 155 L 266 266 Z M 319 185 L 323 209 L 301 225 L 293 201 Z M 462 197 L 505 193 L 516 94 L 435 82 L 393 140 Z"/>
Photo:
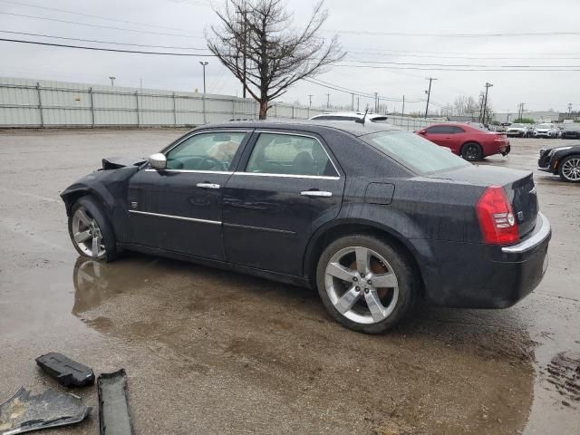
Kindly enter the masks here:
<path id="1" fill-rule="evenodd" d="M 345 247 L 328 262 L 326 294 L 336 310 L 357 324 L 376 324 L 391 315 L 399 284 L 391 265 L 367 247 Z"/>

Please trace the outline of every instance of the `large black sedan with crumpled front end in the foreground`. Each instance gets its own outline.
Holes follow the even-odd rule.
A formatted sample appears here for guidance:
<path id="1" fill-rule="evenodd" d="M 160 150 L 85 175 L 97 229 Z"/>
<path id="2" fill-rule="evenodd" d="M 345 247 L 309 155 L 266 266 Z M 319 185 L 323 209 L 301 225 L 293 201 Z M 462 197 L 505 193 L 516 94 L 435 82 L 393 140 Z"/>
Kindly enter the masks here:
<path id="1" fill-rule="evenodd" d="M 419 297 L 507 307 L 546 271 L 530 172 L 385 124 L 229 122 L 102 166 L 62 194 L 82 256 L 140 251 L 310 286 L 365 333 Z"/>

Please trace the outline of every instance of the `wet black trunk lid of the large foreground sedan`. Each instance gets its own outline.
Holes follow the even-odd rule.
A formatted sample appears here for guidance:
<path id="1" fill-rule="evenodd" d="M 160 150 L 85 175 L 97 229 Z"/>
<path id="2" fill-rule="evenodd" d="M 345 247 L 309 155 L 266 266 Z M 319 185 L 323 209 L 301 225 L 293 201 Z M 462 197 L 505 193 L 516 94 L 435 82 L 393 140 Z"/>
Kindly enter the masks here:
<path id="1" fill-rule="evenodd" d="M 482 188 L 501 186 L 514 209 L 519 237 L 525 237 L 536 225 L 537 195 L 534 178 L 530 171 L 473 165 L 431 174 L 429 177 L 448 179 Z M 475 202 L 477 201 L 478 198 L 475 198 Z"/>

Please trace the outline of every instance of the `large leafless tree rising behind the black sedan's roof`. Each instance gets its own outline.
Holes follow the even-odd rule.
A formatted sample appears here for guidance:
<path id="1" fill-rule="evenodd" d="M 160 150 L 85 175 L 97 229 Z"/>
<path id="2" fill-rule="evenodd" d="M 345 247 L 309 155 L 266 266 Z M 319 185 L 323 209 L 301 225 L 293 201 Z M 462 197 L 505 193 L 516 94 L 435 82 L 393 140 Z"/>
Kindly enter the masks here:
<path id="1" fill-rule="evenodd" d="M 206 33 L 208 48 L 259 102 L 261 120 L 270 102 L 295 82 L 343 58 L 336 35 L 329 42 L 319 36 L 328 17 L 323 5 L 324 0 L 314 6 L 300 31 L 293 30 L 293 14 L 283 0 L 226 0 L 216 10 L 220 23 Z"/>

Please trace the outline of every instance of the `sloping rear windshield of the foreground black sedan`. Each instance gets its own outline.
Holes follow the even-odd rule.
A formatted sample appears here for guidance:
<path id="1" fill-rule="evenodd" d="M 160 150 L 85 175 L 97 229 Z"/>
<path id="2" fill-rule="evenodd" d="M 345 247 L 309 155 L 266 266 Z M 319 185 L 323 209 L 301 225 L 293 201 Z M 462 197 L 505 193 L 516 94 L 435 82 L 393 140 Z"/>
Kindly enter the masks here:
<path id="1" fill-rule="evenodd" d="M 381 131 L 362 136 L 361 139 L 420 175 L 470 165 L 448 149 L 410 131 Z"/>

